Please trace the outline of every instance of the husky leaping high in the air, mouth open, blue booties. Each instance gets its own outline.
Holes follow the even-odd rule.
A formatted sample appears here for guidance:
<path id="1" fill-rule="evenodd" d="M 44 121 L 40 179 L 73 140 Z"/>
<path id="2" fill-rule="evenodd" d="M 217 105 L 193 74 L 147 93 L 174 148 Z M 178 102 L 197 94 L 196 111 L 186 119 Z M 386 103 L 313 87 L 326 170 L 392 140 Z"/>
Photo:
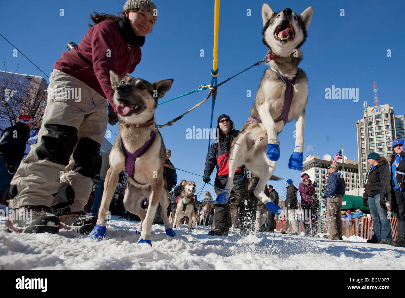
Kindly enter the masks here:
<path id="1" fill-rule="evenodd" d="M 297 137 L 288 167 L 302 169 L 308 81 L 305 72 L 298 69 L 298 63 L 302 60 L 299 48 L 306 39 L 312 12 L 311 6 L 300 15 L 289 8 L 274 13 L 266 3 L 262 6 L 263 43 L 270 49 L 267 59 L 271 68 L 264 72 L 250 117 L 232 142 L 228 183 L 217 197 L 221 204 L 228 202 L 236 168 L 245 165 L 260 178 L 254 195 L 270 211 L 279 214 L 281 209 L 264 194 L 264 187 L 280 157 L 277 135 L 292 119 L 295 119 Z"/>

